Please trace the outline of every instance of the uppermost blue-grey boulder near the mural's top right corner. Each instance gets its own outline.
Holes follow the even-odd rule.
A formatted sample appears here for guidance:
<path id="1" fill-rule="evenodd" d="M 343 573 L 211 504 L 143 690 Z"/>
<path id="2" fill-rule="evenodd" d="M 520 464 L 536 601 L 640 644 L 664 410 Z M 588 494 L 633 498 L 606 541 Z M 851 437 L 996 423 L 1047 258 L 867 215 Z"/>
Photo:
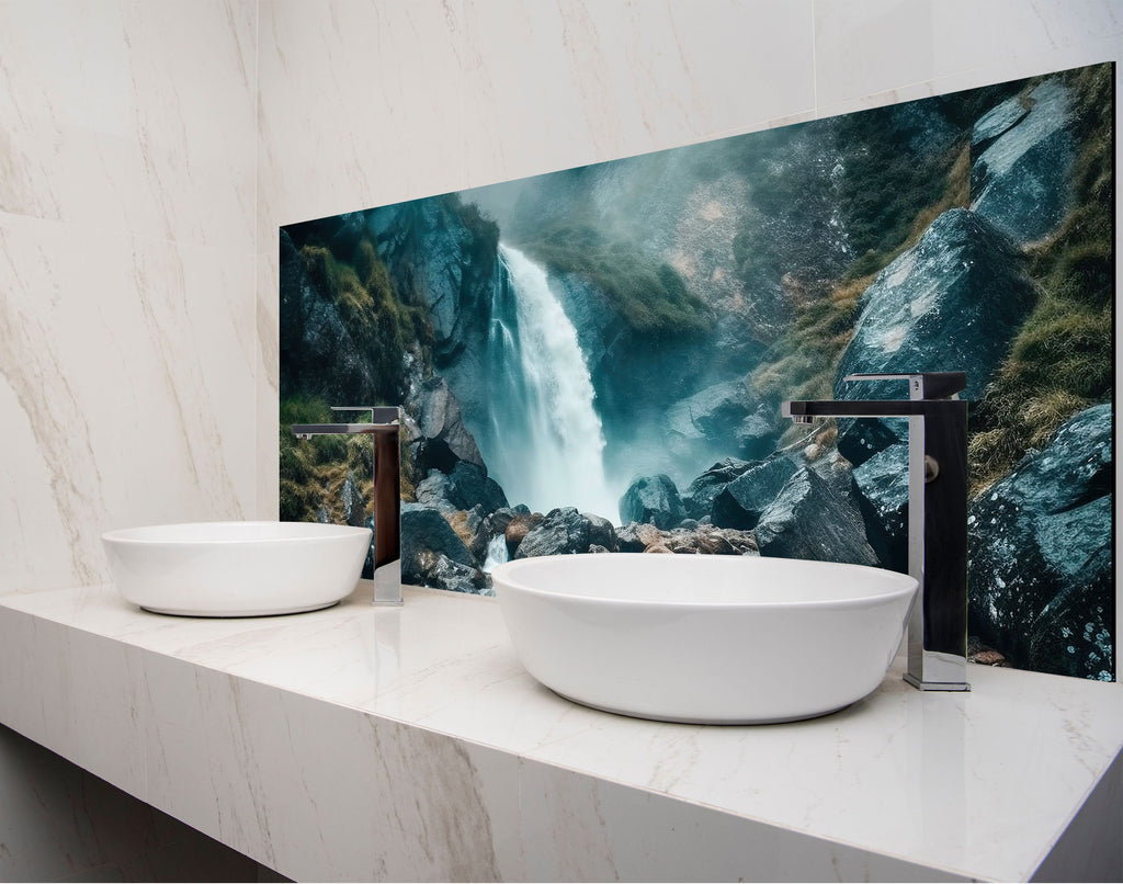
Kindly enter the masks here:
<path id="1" fill-rule="evenodd" d="M 1019 245 L 1040 239 L 1068 209 L 1076 158 L 1072 102 L 1059 80 L 983 116 L 971 135 L 971 208 Z"/>

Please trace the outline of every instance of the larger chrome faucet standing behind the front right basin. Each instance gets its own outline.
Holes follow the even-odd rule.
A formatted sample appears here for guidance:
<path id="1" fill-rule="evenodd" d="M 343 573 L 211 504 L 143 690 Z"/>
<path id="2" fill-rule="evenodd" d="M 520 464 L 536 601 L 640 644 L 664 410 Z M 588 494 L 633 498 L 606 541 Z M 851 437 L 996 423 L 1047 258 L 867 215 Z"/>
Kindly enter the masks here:
<path id="1" fill-rule="evenodd" d="M 784 402 L 798 423 L 814 418 L 909 418 L 909 574 L 920 599 L 909 620 L 905 681 L 922 691 L 967 683 L 967 402 L 964 372 L 851 374 L 907 381 L 907 400 Z"/>

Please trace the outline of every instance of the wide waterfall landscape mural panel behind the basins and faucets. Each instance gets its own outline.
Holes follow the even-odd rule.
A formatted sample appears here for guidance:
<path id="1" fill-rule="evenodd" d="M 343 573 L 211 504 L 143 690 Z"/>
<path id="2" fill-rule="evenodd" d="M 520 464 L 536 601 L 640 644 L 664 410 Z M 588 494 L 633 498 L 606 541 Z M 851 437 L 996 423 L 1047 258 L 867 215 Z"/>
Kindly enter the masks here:
<path id="1" fill-rule="evenodd" d="M 409 583 L 904 569 L 905 428 L 779 402 L 960 370 L 973 653 L 1110 680 L 1113 118 L 1096 65 L 282 228 L 281 518 L 369 519 L 363 443 L 290 423 L 402 404 Z"/>

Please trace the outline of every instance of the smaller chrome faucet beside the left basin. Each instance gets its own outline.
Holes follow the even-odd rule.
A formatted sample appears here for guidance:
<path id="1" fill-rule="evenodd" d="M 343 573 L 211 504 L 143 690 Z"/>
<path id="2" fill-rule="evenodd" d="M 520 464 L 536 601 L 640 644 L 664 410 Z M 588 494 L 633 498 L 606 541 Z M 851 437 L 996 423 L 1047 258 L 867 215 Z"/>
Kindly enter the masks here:
<path id="1" fill-rule="evenodd" d="M 374 437 L 374 603 L 402 603 L 401 454 L 396 407 L 331 408 L 369 411 L 369 423 L 293 423 L 300 439 L 313 436 L 364 434 Z"/>

